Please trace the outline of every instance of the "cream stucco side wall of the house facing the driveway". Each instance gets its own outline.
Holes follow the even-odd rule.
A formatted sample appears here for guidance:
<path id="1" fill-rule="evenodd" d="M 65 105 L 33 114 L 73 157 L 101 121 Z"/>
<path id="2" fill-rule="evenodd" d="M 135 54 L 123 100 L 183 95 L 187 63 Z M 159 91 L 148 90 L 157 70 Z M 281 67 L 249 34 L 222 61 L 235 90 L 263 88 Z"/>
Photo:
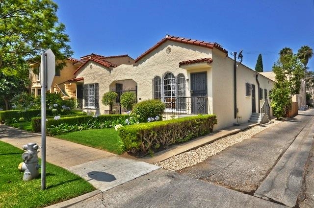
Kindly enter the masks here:
<path id="1" fill-rule="evenodd" d="M 236 122 L 234 113 L 234 61 L 233 59 L 226 57 L 220 53 L 220 51 L 214 50 L 212 62 L 212 92 L 213 92 L 213 113 L 217 115 L 218 123 L 214 129 L 218 130 L 224 127 L 232 126 Z M 238 109 L 238 122 L 247 122 L 252 115 L 252 97 L 245 96 L 245 83 L 254 84 L 256 87 L 256 112 L 259 112 L 259 105 L 262 107 L 264 96 L 259 101 L 259 89 L 256 82 L 256 71 L 239 65 L 236 69 L 236 106 Z M 269 90 L 273 87 L 273 81 L 259 75 L 258 80 L 260 87 L 267 89 L 269 96 Z M 270 103 L 270 102 L 269 102 Z"/>

